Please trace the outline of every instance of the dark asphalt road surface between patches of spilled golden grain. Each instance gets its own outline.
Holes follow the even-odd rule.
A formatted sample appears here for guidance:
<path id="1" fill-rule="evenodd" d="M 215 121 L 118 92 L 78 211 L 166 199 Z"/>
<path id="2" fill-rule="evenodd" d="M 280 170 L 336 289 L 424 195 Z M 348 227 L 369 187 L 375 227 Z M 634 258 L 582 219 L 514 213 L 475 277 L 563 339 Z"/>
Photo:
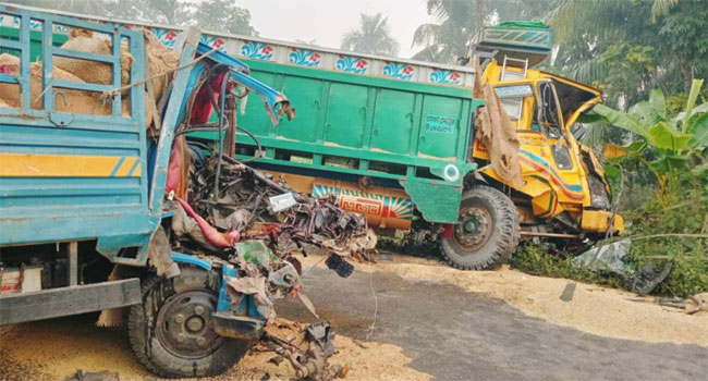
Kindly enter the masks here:
<path id="1" fill-rule="evenodd" d="M 340 332 L 366 339 L 373 281 L 378 311 L 370 340 L 401 346 L 413 368 L 436 380 L 708 379 L 708 348 L 698 345 L 600 337 L 449 284 L 381 272 L 356 272 L 345 282 L 333 276 L 314 269 L 305 278 L 320 315 Z"/>

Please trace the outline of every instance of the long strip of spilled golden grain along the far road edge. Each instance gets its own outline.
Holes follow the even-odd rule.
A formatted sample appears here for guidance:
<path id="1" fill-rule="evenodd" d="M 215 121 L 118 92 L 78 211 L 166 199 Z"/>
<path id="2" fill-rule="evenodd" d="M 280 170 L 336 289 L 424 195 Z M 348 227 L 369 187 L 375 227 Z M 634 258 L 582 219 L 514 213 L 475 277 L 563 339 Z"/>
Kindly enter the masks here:
<path id="1" fill-rule="evenodd" d="M 376 263 L 354 263 L 358 271 L 381 271 L 403 278 L 444 282 L 503 299 L 524 314 L 606 337 L 708 347 L 708 312 L 686 315 L 654 304 L 651 297 L 577 283 L 571 302 L 560 299 L 566 279 L 535 276 L 502 266 L 492 271 L 463 271 L 438 260 L 387 255 Z M 304 267 L 324 267 L 310 255 Z M 639 302 L 637 302 L 639 300 Z"/>

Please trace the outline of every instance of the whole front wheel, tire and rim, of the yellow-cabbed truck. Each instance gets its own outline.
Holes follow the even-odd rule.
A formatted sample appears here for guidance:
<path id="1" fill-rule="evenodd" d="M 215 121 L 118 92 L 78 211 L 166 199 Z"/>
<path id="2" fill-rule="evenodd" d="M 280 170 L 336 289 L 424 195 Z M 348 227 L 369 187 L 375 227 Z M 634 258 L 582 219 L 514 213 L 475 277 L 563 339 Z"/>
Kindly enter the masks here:
<path id="1" fill-rule="evenodd" d="M 442 238 L 442 255 L 461 270 L 493 269 L 516 250 L 520 229 L 518 211 L 506 195 L 474 186 L 462 195 L 457 224 Z"/>

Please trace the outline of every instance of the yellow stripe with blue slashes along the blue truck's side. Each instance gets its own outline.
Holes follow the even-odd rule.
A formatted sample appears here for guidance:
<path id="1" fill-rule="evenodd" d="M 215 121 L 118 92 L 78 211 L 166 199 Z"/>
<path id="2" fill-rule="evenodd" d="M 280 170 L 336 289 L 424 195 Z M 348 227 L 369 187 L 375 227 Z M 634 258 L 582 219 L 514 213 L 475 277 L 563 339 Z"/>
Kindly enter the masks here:
<path id="1" fill-rule="evenodd" d="M 138 177 L 136 157 L 0 153 L 0 177 Z M 118 167 L 118 168 L 117 168 Z"/>

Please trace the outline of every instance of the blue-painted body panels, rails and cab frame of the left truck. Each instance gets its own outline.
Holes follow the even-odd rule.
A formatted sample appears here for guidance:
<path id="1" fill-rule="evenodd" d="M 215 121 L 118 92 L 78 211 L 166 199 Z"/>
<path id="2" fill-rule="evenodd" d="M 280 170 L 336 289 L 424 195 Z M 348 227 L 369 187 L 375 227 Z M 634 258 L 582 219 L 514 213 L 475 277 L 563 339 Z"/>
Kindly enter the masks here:
<path id="1" fill-rule="evenodd" d="M 59 247 L 60 243 L 70 243 L 69 272 L 73 273 L 68 287 L 0 296 L 0 324 L 141 303 L 139 282 L 125 280 L 77 286 L 77 242 L 95 242 L 96 251 L 112 263 L 147 265 L 148 245 L 163 218 L 167 172 L 175 128 L 184 115 L 186 98 L 206 67 L 195 57 L 209 56 L 211 62 L 232 67 L 231 76 L 260 94 L 271 113 L 282 95 L 239 72 L 247 70 L 241 61 L 200 45 L 199 30 L 190 28 L 184 32 L 183 44 L 175 47 L 180 65 L 170 83 L 159 136 L 148 138 L 146 108 L 150 105 L 146 102 L 150 100 L 146 98 L 144 84 L 147 60 L 142 33 L 120 25 L 89 23 L 7 5 L 0 5 L 0 14 L 17 17 L 21 25 L 14 40 L 0 38 L 0 49 L 13 51 L 20 61 L 17 75 L 0 74 L 0 85 L 15 86 L 19 91 L 19 107 L 0 103 L 0 248 L 33 248 L 54 243 Z M 36 88 L 30 90 L 30 37 L 35 38 L 34 49 L 37 49 L 36 36 L 29 34 L 30 21 L 42 25 L 40 95 L 33 93 L 37 91 Z M 112 40 L 111 54 L 66 50 L 52 45 L 57 25 L 108 36 Z M 121 42 L 127 45 L 134 62 L 130 70 L 130 87 L 114 90 L 122 86 Z M 111 83 L 101 85 L 54 78 L 52 60 L 56 57 L 111 64 Z M 102 94 L 105 101 L 111 105 L 110 114 L 58 111 L 56 102 L 62 101 L 62 91 L 66 89 Z M 32 107 L 37 97 L 41 97 L 40 107 L 36 102 Z M 122 105 L 123 98 L 127 99 L 127 113 Z M 27 261 L 30 257 L 29 249 Z M 182 266 L 221 272 L 212 270 L 209 259 L 174 253 L 172 260 Z M 110 293 L 110 300 L 100 302 L 107 293 Z M 219 297 L 221 299 L 223 295 Z M 76 298 L 98 302 L 72 306 L 71 300 Z M 46 312 L 32 312 L 46 306 L 47 300 L 56 300 L 54 310 L 44 308 Z M 243 303 L 253 305 L 248 300 L 249 296 L 243 298 Z M 256 309 L 248 311 L 251 318 L 232 316 L 229 306 L 220 306 L 218 311 L 222 321 L 232 320 L 231 325 L 243 318 L 247 330 L 242 333 L 249 332 L 253 337 L 257 337 L 263 329 L 263 316 Z"/>

